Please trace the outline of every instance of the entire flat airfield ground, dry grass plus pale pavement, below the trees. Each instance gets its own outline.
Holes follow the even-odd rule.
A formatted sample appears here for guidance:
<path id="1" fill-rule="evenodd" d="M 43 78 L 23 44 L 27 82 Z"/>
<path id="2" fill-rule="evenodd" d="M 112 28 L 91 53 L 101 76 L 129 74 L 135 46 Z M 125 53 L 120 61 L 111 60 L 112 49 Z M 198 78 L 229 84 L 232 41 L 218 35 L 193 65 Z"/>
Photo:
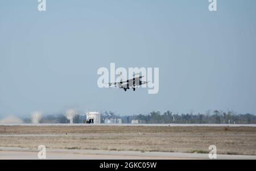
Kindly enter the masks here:
<path id="1" fill-rule="evenodd" d="M 236 155 L 235 159 L 242 155 L 243 159 L 256 156 L 255 129 L 250 126 L 138 124 L 0 126 L 0 147 L 12 147 L 11 150 L 2 149 L 0 154 L 11 159 L 15 156 L 34 159 L 32 154 L 36 148 L 45 145 L 49 159 L 207 159 L 209 145 L 216 145 L 217 153 L 223 159 L 232 155 Z M 22 153 L 13 151 L 15 147 L 22 148 Z M 31 151 L 33 149 L 35 151 Z"/>

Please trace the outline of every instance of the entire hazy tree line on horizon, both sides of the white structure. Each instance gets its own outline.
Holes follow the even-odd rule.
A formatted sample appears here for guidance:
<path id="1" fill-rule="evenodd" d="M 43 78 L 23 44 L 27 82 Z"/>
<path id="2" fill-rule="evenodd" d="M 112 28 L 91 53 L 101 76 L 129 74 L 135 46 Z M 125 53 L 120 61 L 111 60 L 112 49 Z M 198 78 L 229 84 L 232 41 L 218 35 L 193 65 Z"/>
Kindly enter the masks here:
<path id="1" fill-rule="evenodd" d="M 233 111 L 210 111 L 205 113 L 193 112 L 181 113 L 166 111 L 152 111 L 148 114 L 138 115 L 118 115 L 112 111 L 105 111 L 101 113 L 101 123 L 105 119 L 122 119 L 122 123 L 131 123 L 131 120 L 138 120 L 139 123 L 185 123 L 185 124 L 256 124 L 256 116 L 254 114 L 237 114 Z M 24 118 L 25 123 L 30 123 L 31 118 Z M 86 116 L 84 114 L 77 114 L 73 118 L 73 123 L 85 123 Z M 43 115 L 40 123 L 69 123 L 65 114 Z"/>

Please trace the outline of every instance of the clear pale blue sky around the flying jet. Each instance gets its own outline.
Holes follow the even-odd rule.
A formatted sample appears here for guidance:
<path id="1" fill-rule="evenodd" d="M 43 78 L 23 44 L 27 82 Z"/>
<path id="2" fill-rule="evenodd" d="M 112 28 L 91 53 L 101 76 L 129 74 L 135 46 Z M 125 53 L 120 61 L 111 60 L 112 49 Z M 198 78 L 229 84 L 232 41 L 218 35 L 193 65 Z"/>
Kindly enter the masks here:
<path id="1" fill-rule="evenodd" d="M 256 113 L 256 1 L 0 1 L 0 116 L 40 110 Z M 97 69 L 159 67 L 159 93 Z"/>

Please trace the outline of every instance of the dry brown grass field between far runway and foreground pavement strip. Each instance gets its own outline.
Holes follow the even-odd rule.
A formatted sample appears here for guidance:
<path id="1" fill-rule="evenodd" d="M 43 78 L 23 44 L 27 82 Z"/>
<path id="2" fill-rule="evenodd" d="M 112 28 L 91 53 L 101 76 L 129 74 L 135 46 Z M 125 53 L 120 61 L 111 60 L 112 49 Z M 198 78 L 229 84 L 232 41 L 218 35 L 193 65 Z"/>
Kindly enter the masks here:
<path id="1" fill-rule="evenodd" d="M 256 155 L 256 127 L 0 126 L 0 147 Z"/>

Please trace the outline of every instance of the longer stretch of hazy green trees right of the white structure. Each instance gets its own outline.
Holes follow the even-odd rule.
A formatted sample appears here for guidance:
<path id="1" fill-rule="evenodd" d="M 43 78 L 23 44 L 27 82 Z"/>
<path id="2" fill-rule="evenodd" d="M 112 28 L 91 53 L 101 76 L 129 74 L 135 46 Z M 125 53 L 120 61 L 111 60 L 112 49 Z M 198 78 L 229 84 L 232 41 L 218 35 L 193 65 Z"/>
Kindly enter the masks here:
<path id="1" fill-rule="evenodd" d="M 166 111 L 161 114 L 159 111 L 152 111 L 148 114 L 120 116 L 112 111 L 105 111 L 101 114 L 101 120 L 105 118 L 121 118 L 122 123 L 131 123 L 131 120 L 138 120 L 139 123 L 187 123 L 187 124 L 256 124 L 254 114 L 237 114 L 234 111 L 206 111 L 205 113 L 189 112 L 179 114 L 178 112 Z"/>

